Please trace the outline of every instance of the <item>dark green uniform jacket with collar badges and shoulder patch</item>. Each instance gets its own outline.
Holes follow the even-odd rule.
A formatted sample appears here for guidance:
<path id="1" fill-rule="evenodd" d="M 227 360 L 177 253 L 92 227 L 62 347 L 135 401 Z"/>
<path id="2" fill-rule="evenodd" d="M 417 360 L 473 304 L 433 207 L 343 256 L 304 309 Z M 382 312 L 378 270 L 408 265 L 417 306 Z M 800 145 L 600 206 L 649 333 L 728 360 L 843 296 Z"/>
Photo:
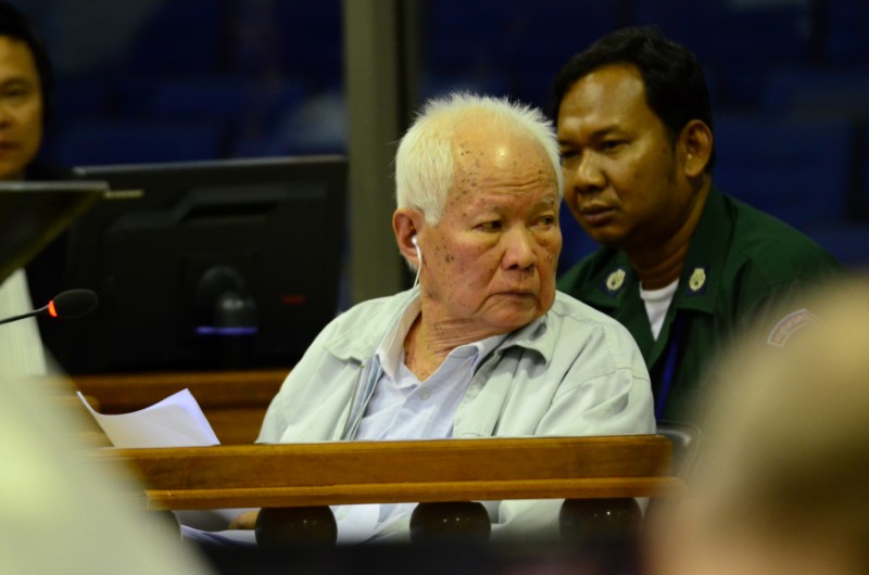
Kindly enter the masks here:
<path id="1" fill-rule="evenodd" d="M 803 289 L 841 269 L 803 233 L 713 187 L 657 341 L 624 252 L 601 247 L 558 289 L 628 328 L 652 376 L 658 419 L 694 421 L 703 372 L 722 345 L 750 321 L 780 333 L 790 314 L 772 317 L 770 304 L 794 297 L 788 309 L 797 311 Z"/>

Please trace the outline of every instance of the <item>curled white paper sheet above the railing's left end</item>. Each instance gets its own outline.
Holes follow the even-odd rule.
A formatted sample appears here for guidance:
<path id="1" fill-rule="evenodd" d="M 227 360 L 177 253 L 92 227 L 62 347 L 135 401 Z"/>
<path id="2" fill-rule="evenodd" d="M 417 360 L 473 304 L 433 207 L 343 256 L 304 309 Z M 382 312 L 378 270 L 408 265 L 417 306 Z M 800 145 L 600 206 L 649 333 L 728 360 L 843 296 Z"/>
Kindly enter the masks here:
<path id="1" fill-rule="evenodd" d="M 115 447 L 194 447 L 221 443 L 190 389 L 181 389 L 139 411 L 116 416 L 98 413 L 81 392 L 76 393 Z"/>

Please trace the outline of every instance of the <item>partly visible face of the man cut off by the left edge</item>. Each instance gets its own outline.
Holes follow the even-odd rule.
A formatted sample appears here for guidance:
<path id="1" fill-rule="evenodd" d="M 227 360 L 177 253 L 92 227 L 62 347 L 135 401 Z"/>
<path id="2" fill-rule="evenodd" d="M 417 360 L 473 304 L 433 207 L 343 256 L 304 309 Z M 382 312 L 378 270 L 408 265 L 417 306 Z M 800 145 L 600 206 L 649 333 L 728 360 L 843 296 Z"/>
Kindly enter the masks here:
<path id="1" fill-rule="evenodd" d="M 26 43 L 0 36 L 0 180 L 15 180 L 39 151 L 42 90 Z"/>

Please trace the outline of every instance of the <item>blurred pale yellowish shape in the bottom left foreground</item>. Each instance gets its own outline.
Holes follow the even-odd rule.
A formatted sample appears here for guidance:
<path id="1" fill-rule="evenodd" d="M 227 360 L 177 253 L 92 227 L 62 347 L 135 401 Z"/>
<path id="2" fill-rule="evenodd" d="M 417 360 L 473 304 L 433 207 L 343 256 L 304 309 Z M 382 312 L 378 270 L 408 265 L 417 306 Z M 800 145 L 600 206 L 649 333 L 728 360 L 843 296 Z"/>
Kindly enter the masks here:
<path id="1" fill-rule="evenodd" d="M 177 524 L 144 510 L 129 470 L 91 457 L 67 382 L 10 373 L 0 356 L 0 573 L 212 573 Z"/>

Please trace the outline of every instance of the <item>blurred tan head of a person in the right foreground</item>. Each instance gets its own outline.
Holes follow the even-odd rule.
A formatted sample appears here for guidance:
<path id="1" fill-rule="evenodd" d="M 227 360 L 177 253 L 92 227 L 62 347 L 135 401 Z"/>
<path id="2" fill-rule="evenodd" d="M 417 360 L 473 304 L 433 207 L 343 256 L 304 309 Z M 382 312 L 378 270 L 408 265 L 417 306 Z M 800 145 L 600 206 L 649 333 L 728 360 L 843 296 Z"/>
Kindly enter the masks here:
<path id="1" fill-rule="evenodd" d="M 810 307 L 784 347 L 746 337 L 714 370 L 702 467 L 648 531 L 650 573 L 869 573 L 869 281 Z"/>

